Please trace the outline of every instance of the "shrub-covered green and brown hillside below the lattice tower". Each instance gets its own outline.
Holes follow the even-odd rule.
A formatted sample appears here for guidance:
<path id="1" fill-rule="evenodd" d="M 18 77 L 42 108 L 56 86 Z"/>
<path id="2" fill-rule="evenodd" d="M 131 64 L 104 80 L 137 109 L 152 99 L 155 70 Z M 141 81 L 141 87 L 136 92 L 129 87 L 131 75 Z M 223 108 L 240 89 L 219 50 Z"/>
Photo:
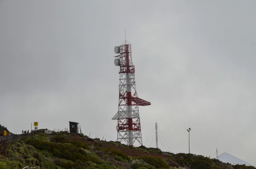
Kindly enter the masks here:
<path id="1" fill-rule="evenodd" d="M 28 165 L 40 169 L 256 169 L 201 155 L 129 147 L 68 132 L 47 135 L 44 130 L 10 141 L 6 157 L 0 155 L 0 169 L 22 169 Z"/>

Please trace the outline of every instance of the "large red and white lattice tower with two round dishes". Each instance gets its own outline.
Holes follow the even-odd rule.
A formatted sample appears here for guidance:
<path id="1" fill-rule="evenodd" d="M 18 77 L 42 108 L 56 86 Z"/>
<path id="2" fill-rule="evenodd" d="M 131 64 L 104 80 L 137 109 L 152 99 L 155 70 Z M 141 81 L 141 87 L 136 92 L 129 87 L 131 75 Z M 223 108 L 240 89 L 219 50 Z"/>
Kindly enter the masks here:
<path id="1" fill-rule="evenodd" d="M 135 141 L 141 145 L 141 128 L 139 106 L 151 105 L 140 99 L 136 92 L 135 69 L 131 60 L 131 44 L 127 40 L 121 46 L 116 46 L 114 52 L 119 54 L 114 63 L 120 66 L 119 71 L 119 104 L 118 112 L 112 118 L 117 120 L 117 141 L 128 146 L 134 146 Z"/>

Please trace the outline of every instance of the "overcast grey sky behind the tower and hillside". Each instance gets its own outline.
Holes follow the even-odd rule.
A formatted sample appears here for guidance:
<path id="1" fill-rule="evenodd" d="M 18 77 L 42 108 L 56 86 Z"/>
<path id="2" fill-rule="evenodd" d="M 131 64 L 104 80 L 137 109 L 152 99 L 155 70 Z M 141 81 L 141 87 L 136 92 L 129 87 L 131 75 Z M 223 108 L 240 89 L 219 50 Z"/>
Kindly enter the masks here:
<path id="1" fill-rule="evenodd" d="M 125 3 L 127 2 L 127 3 Z M 0 124 L 116 140 L 119 68 L 132 46 L 143 143 L 255 163 L 256 1 L 0 1 Z M 152 140 L 153 139 L 153 140 Z M 152 140 L 152 141 L 151 141 Z"/>

